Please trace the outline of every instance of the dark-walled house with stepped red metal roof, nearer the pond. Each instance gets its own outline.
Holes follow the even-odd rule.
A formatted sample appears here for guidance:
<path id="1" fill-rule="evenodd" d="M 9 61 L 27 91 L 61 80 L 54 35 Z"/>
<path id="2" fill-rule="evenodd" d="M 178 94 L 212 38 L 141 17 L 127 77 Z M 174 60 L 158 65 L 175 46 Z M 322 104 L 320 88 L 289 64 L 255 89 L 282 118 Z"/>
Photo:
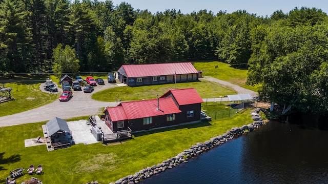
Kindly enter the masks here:
<path id="1" fill-rule="evenodd" d="M 117 131 L 142 131 L 199 122 L 203 100 L 195 89 L 171 89 L 159 98 L 122 102 L 104 110 L 106 125 Z"/>

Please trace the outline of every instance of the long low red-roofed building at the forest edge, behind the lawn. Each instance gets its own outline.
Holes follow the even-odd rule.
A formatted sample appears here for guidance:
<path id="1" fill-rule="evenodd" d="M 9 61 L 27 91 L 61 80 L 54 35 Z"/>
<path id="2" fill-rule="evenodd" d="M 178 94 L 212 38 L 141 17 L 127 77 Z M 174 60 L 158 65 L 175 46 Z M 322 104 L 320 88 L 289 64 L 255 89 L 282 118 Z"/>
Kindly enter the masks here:
<path id="1" fill-rule="evenodd" d="M 192 63 L 163 63 L 122 65 L 117 78 L 128 86 L 184 83 L 198 80 L 198 71 Z"/>

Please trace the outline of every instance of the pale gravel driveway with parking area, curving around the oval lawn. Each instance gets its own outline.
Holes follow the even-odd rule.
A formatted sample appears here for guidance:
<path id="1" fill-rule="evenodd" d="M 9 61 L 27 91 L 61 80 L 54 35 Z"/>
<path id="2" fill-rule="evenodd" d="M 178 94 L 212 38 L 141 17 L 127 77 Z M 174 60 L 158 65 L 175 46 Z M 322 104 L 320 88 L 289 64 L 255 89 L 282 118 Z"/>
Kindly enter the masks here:
<path id="1" fill-rule="evenodd" d="M 219 83 L 220 85 L 226 86 L 227 88 L 234 89 L 235 91 L 237 91 L 238 94 L 250 93 L 251 95 L 257 95 L 257 92 L 244 89 L 237 85 L 233 85 L 231 83 L 228 83 L 227 81 L 223 81 L 209 76 L 205 76 L 204 79 L 214 81 L 216 83 Z M 49 91 L 45 91 L 43 86 L 44 84 L 40 85 L 40 90 L 46 93 L 51 93 Z M 83 91 L 73 91 L 73 97 L 69 101 L 61 102 L 59 100 L 56 100 L 53 103 L 47 104 L 39 108 L 0 117 L 0 127 L 27 124 L 30 122 L 47 121 L 52 119 L 53 117 L 66 119 L 78 116 L 99 114 L 99 111 L 102 108 L 105 108 L 106 106 L 116 106 L 116 102 L 97 101 L 92 99 L 91 95 L 98 91 L 113 87 L 117 87 L 117 85 L 105 83 L 105 85 L 98 85 L 97 87 L 95 87 L 92 93 L 84 93 Z M 58 88 L 58 97 L 59 93 L 61 93 L 62 91 L 63 90 Z M 222 100 L 224 101 L 226 99 Z"/>

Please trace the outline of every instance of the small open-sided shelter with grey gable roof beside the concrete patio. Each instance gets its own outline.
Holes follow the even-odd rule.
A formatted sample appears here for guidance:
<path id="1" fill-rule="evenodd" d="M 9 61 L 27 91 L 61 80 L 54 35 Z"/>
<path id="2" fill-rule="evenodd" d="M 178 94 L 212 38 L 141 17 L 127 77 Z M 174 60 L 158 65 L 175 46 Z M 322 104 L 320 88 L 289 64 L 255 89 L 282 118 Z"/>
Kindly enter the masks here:
<path id="1" fill-rule="evenodd" d="M 47 122 L 46 128 L 53 149 L 67 148 L 72 145 L 73 138 L 66 120 L 54 117 Z"/>

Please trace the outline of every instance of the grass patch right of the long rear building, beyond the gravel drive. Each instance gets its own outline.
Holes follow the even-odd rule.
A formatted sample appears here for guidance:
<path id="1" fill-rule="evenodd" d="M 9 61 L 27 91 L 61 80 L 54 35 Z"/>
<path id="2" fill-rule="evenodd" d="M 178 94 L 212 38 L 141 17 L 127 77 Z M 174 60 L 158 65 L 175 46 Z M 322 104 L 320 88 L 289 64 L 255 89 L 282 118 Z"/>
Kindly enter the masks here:
<path id="1" fill-rule="evenodd" d="M 246 85 L 248 70 L 235 69 L 231 67 L 229 64 L 221 63 L 217 61 L 193 62 L 193 65 L 196 68 L 196 70 L 201 70 L 203 75 L 228 81 L 229 83 L 238 85 L 240 87 L 252 91 L 257 91 L 258 86 L 253 87 L 253 86 Z M 215 68 L 215 66 L 218 67 Z"/>

